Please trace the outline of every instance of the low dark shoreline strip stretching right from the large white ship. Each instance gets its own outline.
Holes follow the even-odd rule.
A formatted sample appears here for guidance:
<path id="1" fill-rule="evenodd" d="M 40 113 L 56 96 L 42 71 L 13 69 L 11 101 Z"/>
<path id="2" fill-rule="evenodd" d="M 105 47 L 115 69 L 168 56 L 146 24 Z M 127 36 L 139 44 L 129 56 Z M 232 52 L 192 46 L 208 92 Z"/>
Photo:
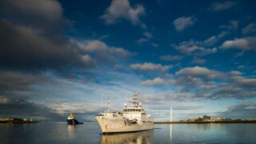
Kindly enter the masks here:
<path id="1" fill-rule="evenodd" d="M 203 123 L 256 123 L 256 120 L 232 120 L 232 121 L 202 121 L 202 122 L 189 122 L 189 121 L 156 121 L 154 124 L 192 124 L 192 123 L 198 123 L 198 124 L 203 124 Z"/>

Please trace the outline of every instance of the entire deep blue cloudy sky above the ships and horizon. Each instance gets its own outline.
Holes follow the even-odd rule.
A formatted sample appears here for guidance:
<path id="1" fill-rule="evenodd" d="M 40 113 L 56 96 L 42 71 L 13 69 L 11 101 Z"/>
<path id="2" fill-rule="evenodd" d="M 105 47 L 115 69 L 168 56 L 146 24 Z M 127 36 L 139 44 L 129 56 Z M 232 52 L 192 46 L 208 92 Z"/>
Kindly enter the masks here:
<path id="1" fill-rule="evenodd" d="M 256 2 L 1 0 L 0 116 L 256 117 Z"/>

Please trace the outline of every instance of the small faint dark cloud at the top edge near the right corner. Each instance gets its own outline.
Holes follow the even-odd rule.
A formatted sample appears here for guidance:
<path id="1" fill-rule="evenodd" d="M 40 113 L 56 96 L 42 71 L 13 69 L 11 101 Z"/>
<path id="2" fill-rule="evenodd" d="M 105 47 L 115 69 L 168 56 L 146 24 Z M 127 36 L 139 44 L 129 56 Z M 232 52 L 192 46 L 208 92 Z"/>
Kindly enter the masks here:
<path id="1" fill-rule="evenodd" d="M 209 10 L 213 10 L 213 11 L 229 10 L 236 5 L 238 5 L 237 2 L 230 2 L 230 1 L 223 2 L 223 3 L 215 2 L 210 6 Z"/>

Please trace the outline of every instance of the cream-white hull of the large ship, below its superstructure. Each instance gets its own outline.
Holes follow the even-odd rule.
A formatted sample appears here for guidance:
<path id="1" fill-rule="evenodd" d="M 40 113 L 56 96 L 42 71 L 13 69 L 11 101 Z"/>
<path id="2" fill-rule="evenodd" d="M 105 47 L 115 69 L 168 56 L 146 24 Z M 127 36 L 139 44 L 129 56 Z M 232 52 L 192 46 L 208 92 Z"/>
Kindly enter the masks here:
<path id="1" fill-rule="evenodd" d="M 154 128 L 153 122 L 126 123 L 124 119 L 102 119 L 102 117 L 96 117 L 96 121 L 103 134 L 152 130 Z"/>

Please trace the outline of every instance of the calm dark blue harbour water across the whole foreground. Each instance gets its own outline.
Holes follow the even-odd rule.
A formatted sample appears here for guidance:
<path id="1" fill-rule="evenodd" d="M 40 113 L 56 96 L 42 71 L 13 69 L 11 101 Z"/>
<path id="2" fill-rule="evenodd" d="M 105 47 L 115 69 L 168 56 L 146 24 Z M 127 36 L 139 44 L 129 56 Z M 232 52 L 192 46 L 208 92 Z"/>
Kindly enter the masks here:
<path id="1" fill-rule="evenodd" d="M 155 124 L 154 130 L 100 134 L 97 123 L 0 123 L 0 144 L 256 143 L 256 123 Z"/>

